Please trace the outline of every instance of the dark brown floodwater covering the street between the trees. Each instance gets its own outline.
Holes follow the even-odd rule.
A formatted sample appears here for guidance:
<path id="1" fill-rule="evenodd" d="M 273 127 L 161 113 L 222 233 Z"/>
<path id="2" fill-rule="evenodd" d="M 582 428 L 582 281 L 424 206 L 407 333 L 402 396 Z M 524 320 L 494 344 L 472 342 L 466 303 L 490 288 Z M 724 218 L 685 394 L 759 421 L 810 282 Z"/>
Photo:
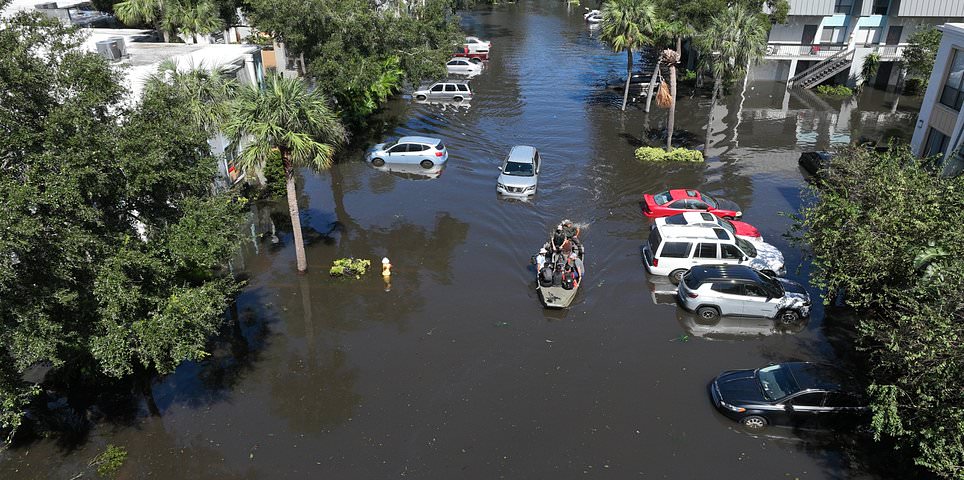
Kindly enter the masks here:
<path id="1" fill-rule="evenodd" d="M 887 478 L 864 437 L 750 435 L 713 409 L 706 385 L 721 370 L 846 362 L 852 349 L 819 306 L 780 331 L 699 325 L 655 295 L 639 201 L 677 186 L 734 200 L 806 283 L 803 255 L 782 236 L 781 213 L 805 185 L 799 153 L 909 138 L 913 99 L 737 85 L 715 109 L 705 165 L 641 164 L 633 149 L 665 112 L 619 111 L 622 92 L 605 84 L 624 74 L 625 55 L 600 44 L 580 8 L 519 2 L 463 23 L 494 42 L 471 106 L 398 98 L 358 139 L 441 137 L 451 158 L 439 178 L 377 171 L 360 151 L 304 172 L 309 273 L 295 273 L 283 205 L 257 206 L 233 263 L 247 286 L 211 357 L 156 379 L 150 401 L 137 396 L 80 444 L 3 452 L 0 478 L 89 476 L 109 443 L 129 451 L 122 478 Z M 680 87 L 676 129 L 699 144 L 709 99 L 692 90 Z M 544 160 L 530 201 L 495 193 L 517 144 Z M 583 225 L 588 275 L 570 309 L 548 311 L 529 258 L 564 217 Z M 377 268 L 329 277 L 348 256 L 388 256 L 390 286 Z"/>

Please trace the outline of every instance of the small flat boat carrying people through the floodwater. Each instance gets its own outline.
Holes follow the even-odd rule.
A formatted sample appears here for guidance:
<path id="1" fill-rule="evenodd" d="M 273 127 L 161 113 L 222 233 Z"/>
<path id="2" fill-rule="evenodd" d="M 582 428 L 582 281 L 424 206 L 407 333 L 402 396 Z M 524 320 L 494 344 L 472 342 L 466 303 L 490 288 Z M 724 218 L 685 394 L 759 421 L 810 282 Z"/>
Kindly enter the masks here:
<path id="1" fill-rule="evenodd" d="M 533 263 L 536 264 L 536 291 L 546 308 L 568 307 L 576 298 L 579 285 L 586 275 L 585 248 L 565 237 L 562 237 L 564 241 L 559 240 L 558 232 L 558 228 L 550 232 L 549 241 L 543 245 L 539 255 L 533 257 Z M 576 232 L 573 238 L 578 240 L 578 230 Z M 540 257 L 544 260 L 540 261 Z"/>

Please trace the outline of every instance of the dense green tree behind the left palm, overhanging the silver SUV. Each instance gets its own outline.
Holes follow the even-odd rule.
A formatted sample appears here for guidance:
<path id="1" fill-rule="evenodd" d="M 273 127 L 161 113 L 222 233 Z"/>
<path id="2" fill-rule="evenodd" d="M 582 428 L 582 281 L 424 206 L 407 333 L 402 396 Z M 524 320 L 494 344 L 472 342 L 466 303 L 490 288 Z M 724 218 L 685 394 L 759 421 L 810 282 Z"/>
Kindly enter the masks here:
<path id="1" fill-rule="evenodd" d="M 369 0 L 252 0 L 248 10 L 259 30 L 304 54 L 313 81 L 356 123 L 403 82 L 443 76 L 462 41 L 450 0 L 387 11 Z"/>

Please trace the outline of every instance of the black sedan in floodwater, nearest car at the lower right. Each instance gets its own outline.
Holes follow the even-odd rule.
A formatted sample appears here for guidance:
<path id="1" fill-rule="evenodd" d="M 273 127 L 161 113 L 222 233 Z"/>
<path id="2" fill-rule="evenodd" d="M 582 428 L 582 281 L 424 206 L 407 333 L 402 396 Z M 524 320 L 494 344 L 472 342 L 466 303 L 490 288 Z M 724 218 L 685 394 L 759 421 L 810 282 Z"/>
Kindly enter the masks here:
<path id="1" fill-rule="evenodd" d="M 862 386 L 829 365 L 789 362 L 756 370 L 729 370 L 710 383 L 713 405 L 747 428 L 821 427 L 863 417 Z"/>

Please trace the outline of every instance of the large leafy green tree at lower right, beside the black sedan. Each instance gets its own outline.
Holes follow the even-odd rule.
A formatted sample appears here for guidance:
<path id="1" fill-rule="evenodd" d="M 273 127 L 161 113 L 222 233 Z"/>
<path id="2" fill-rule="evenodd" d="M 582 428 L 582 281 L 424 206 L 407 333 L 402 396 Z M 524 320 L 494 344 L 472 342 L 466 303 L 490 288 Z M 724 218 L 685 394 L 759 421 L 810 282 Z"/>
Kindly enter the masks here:
<path id="1" fill-rule="evenodd" d="M 877 438 L 961 478 L 964 177 L 937 176 L 931 162 L 905 147 L 841 152 L 797 227 L 813 284 L 859 312 Z"/>

